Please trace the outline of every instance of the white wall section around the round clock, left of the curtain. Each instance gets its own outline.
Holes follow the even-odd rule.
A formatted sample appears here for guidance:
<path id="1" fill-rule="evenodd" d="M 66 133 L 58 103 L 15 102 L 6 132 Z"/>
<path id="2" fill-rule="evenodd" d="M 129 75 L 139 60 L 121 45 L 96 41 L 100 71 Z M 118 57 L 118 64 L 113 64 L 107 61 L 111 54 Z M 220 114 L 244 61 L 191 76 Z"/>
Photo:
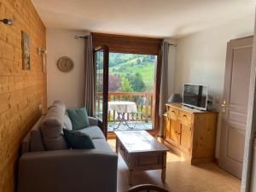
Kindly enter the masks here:
<path id="1" fill-rule="evenodd" d="M 75 35 L 87 32 L 47 29 L 47 101 L 48 106 L 55 100 L 66 103 L 67 108 L 79 108 L 84 104 L 84 39 L 75 39 Z M 62 73 L 56 66 L 61 56 L 69 56 L 73 70 Z"/>

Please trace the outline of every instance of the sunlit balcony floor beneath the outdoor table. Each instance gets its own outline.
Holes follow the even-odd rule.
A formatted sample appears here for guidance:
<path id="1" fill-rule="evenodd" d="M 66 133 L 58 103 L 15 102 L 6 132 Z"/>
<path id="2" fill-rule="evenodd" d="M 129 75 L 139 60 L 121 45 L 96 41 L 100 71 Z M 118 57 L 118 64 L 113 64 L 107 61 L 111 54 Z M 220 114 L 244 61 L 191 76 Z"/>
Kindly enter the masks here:
<path id="1" fill-rule="evenodd" d="M 128 124 L 133 127 L 135 125 L 135 122 L 129 121 Z M 137 124 L 134 128 L 129 128 L 127 125 L 121 124 L 121 125 L 119 125 L 118 129 L 114 129 L 118 125 L 119 125 L 119 122 L 108 123 L 108 132 L 109 131 L 152 130 L 153 129 L 152 122 L 146 123 L 144 121 L 137 122 Z"/>

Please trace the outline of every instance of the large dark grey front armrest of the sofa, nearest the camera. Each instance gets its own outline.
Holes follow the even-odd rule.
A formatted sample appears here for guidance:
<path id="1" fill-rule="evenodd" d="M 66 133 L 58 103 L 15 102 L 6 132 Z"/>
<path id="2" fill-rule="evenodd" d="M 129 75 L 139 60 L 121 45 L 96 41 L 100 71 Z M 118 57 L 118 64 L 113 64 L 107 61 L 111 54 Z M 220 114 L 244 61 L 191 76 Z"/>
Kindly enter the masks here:
<path id="1" fill-rule="evenodd" d="M 18 192 L 116 192 L 117 163 L 117 154 L 96 149 L 26 153 Z"/>

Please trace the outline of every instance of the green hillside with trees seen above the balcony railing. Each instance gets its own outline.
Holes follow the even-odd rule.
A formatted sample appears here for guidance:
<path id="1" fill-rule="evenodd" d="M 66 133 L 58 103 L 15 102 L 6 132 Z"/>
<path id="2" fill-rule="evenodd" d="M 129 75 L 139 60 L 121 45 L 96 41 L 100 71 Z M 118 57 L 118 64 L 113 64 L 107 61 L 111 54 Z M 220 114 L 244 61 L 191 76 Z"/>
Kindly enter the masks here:
<path id="1" fill-rule="evenodd" d="M 109 53 L 110 92 L 153 92 L 157 55 Z"/>

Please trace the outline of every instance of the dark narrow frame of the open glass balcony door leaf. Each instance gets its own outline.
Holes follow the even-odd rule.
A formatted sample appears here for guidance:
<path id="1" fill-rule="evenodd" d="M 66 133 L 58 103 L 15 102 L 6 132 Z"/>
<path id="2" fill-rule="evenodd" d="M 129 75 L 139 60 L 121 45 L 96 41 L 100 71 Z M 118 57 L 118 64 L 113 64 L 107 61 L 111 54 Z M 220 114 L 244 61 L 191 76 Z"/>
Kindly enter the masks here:
<path id="1" fill-rule="evenodd" d="M 107 45 L 93 49 L 93 62 L 96 68 L 96 52 L 103 51 L 103 92 L 102 92 L 102 132 L 107 139 L 108 134 L 108 61 L 109 49 Z M 95 77 L 96 82 L 96 77 Z M 96 103 L 95 103 L 96 104 Z"/>

